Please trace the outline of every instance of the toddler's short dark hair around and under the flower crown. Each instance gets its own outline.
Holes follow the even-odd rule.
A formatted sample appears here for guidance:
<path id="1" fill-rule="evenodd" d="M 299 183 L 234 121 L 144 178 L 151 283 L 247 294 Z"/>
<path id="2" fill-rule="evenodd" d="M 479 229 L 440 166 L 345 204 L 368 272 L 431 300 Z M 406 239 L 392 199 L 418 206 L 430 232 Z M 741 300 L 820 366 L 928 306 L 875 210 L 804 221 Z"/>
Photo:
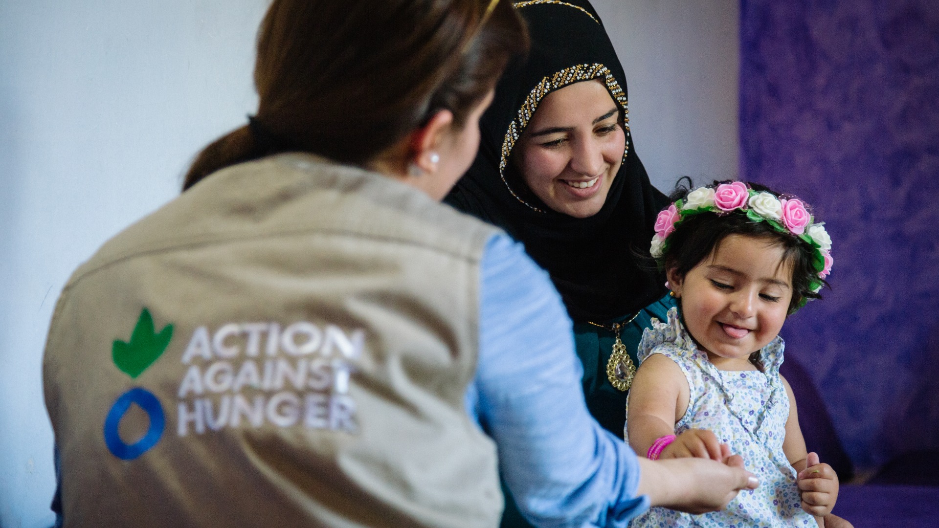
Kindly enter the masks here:
<path id="1" fill-rule="evenodd" d="M 715 185 L 719 183 L 722 182 L 716 181 Z M 754 191 L 779 195 L 759 183 L 747 183 L 747 185 Z M 690 189 L 682 186 L 679 181 L 679 185 L 676 186 L 670 198 L 672 202 L 684 199 L 689 192 Z M 673 271 L 684 279 L 688 272 L 711 256 L 720 247 L 721 242 L 730 235 L 754 237 L 782 248 L 781 264 L 788 264 L 793 271 L 793 299 L 789 303 L 788 311 L 790 315 L 804 306 L 809 299 L 822 298 L 813 291 L 813 287 L 817 287 L 819 281 L 827 286 L 827 282 L 819 278 L 814 266 L 817 250 L 807 241 L 781 233 L 767 222 L 753 222 L 743 214 L 718 216 L 709 213 L 686 217 L 681 223 L 675 225 L 674 232 L 669 235 L 668 251 L 664 255 L 665 270 Z"/>

